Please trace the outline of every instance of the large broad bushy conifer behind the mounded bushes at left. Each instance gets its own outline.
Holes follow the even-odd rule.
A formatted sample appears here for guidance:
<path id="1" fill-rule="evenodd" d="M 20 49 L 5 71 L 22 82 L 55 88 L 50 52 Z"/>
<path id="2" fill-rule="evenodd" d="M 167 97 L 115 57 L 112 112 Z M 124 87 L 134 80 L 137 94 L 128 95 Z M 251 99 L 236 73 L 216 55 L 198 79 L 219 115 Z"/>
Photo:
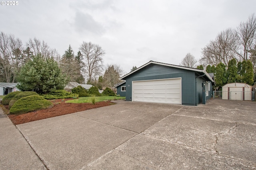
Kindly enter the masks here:
<path id="1" fill-rule="evenodd" d="M 18 89 L 34 91 L 38 94 L 64 89 L 68 82 L 58 63 L 53 58 L 41 55 L 32 57 L 32 60 L 21 67 L 17 80 L 19 82 Z"/>

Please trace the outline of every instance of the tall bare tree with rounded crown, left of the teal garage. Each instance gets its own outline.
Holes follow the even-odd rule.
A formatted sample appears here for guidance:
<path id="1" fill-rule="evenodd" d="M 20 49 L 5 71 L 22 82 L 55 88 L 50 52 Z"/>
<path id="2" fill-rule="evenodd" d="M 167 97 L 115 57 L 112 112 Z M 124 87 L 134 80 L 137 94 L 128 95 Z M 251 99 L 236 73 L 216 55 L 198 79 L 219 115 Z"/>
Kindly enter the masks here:
<path id="1" fill-rule="evenodd" d="M 83 42 L 79 50 L 84 56 L 85 72 L 88 76 L 88 82 L 95 80 L 96 76 L 99 76 L 102 71 L 102 57 L 105 51 L 97 44 L 91 42 Z"/>

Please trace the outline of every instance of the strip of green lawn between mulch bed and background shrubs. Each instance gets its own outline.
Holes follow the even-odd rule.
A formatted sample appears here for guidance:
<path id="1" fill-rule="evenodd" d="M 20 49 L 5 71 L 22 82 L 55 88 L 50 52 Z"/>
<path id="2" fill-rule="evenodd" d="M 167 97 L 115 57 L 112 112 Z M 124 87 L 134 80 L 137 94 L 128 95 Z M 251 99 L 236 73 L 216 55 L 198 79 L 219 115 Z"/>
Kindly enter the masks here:
<path id="1" fill-rule="evenodd" d="M 80 97 L 78 99 L 68 100 L 66 102 L 67 103 L 90 103 L 91 102 L 90 98 L 92 97 Z M 102 102 L 106 100 L 125 100 L 125 97 L 120 97 L 120 96 L 98 96 L 95 98 L 96 98 L 96 102 Z"/>

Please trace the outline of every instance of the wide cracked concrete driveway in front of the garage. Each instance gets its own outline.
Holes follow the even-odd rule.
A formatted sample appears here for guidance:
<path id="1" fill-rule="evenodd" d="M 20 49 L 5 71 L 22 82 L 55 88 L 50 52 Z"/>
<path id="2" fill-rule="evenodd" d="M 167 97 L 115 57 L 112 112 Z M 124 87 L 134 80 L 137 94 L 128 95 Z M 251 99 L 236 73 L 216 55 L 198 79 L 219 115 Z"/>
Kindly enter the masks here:
<path id="1" fill-rule="evenodd" d="M 0 169 L 256 169 L 256 102 L 116 102 L 12 130 L 9 123 L 20 154 L 0 139 Z"/>

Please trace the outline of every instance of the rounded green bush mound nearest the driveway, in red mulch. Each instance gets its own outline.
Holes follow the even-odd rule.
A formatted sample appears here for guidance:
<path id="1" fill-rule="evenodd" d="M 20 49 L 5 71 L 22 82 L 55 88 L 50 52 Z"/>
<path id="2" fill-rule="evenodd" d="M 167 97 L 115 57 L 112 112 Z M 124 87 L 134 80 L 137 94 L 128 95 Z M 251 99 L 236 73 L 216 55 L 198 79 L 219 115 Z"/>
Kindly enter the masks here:
<path id="1" fill-rule="evenodd" d="M 44 99 L 42 96 L 26 96 L 24 98 L 20 98 L 14 103 L 10 109 L 10 114 L 20 115 L 31 111 L 48 109 L 52 106 L 52 102 Z"/>

